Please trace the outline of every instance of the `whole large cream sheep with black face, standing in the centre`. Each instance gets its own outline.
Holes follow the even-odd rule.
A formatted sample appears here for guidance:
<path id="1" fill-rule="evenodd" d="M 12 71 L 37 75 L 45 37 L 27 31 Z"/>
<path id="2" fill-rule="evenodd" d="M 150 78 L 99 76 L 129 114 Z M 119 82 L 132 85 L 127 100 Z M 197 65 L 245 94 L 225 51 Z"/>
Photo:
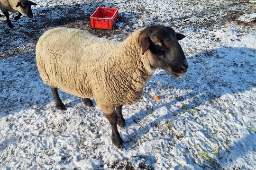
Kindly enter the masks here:
<path id="1" fill-rule="evenodd" d="M 54 28 L 37 42 L 37 68 L 50 86 L 57 109 L 66 110 L 58 88 L 81 97 L 89 107 L 94 98 L 110 122 L 112 143 L 120 148 L 123 140 L 117 125 L 126 125 L 122 106 L 141 99 L 156 68 L 175 77 L 187 72 L 188 63 L 178 42 L 184 37 L 162 25 L 140 28 L 123 42 L 84 30 Z"/>

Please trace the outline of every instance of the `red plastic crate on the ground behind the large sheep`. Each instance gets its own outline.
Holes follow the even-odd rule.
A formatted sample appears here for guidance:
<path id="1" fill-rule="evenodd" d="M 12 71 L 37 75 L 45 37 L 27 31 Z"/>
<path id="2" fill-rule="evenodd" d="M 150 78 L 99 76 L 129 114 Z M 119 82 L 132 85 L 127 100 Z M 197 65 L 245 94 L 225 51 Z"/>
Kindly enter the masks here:
<path id="1" fill-rule="evenodd" d="M 118 8 L 99 7 L 90 17 L 92 28 L 113 29 L 118 19 Z"/>

